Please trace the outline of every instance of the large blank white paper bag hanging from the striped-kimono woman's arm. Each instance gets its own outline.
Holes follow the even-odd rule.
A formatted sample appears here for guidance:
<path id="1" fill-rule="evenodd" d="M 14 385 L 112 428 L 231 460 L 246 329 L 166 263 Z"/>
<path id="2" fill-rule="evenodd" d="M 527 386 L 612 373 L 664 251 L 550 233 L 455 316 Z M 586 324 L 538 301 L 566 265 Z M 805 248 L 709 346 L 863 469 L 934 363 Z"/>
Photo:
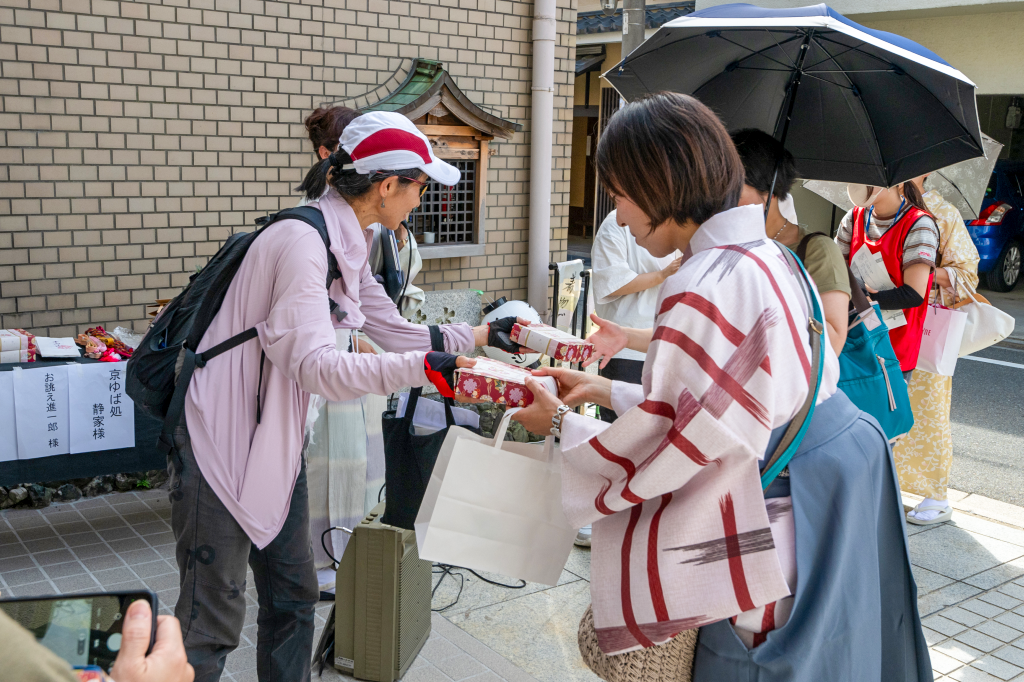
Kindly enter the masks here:
<path id="1" fill-rule="evenodd" d="M 453 426 L 416 517 L 420 557 L 555 585 L 577 530 L 562 511 L 561 452 L 504 442 L 506 411 L 494 438 Z"/>

